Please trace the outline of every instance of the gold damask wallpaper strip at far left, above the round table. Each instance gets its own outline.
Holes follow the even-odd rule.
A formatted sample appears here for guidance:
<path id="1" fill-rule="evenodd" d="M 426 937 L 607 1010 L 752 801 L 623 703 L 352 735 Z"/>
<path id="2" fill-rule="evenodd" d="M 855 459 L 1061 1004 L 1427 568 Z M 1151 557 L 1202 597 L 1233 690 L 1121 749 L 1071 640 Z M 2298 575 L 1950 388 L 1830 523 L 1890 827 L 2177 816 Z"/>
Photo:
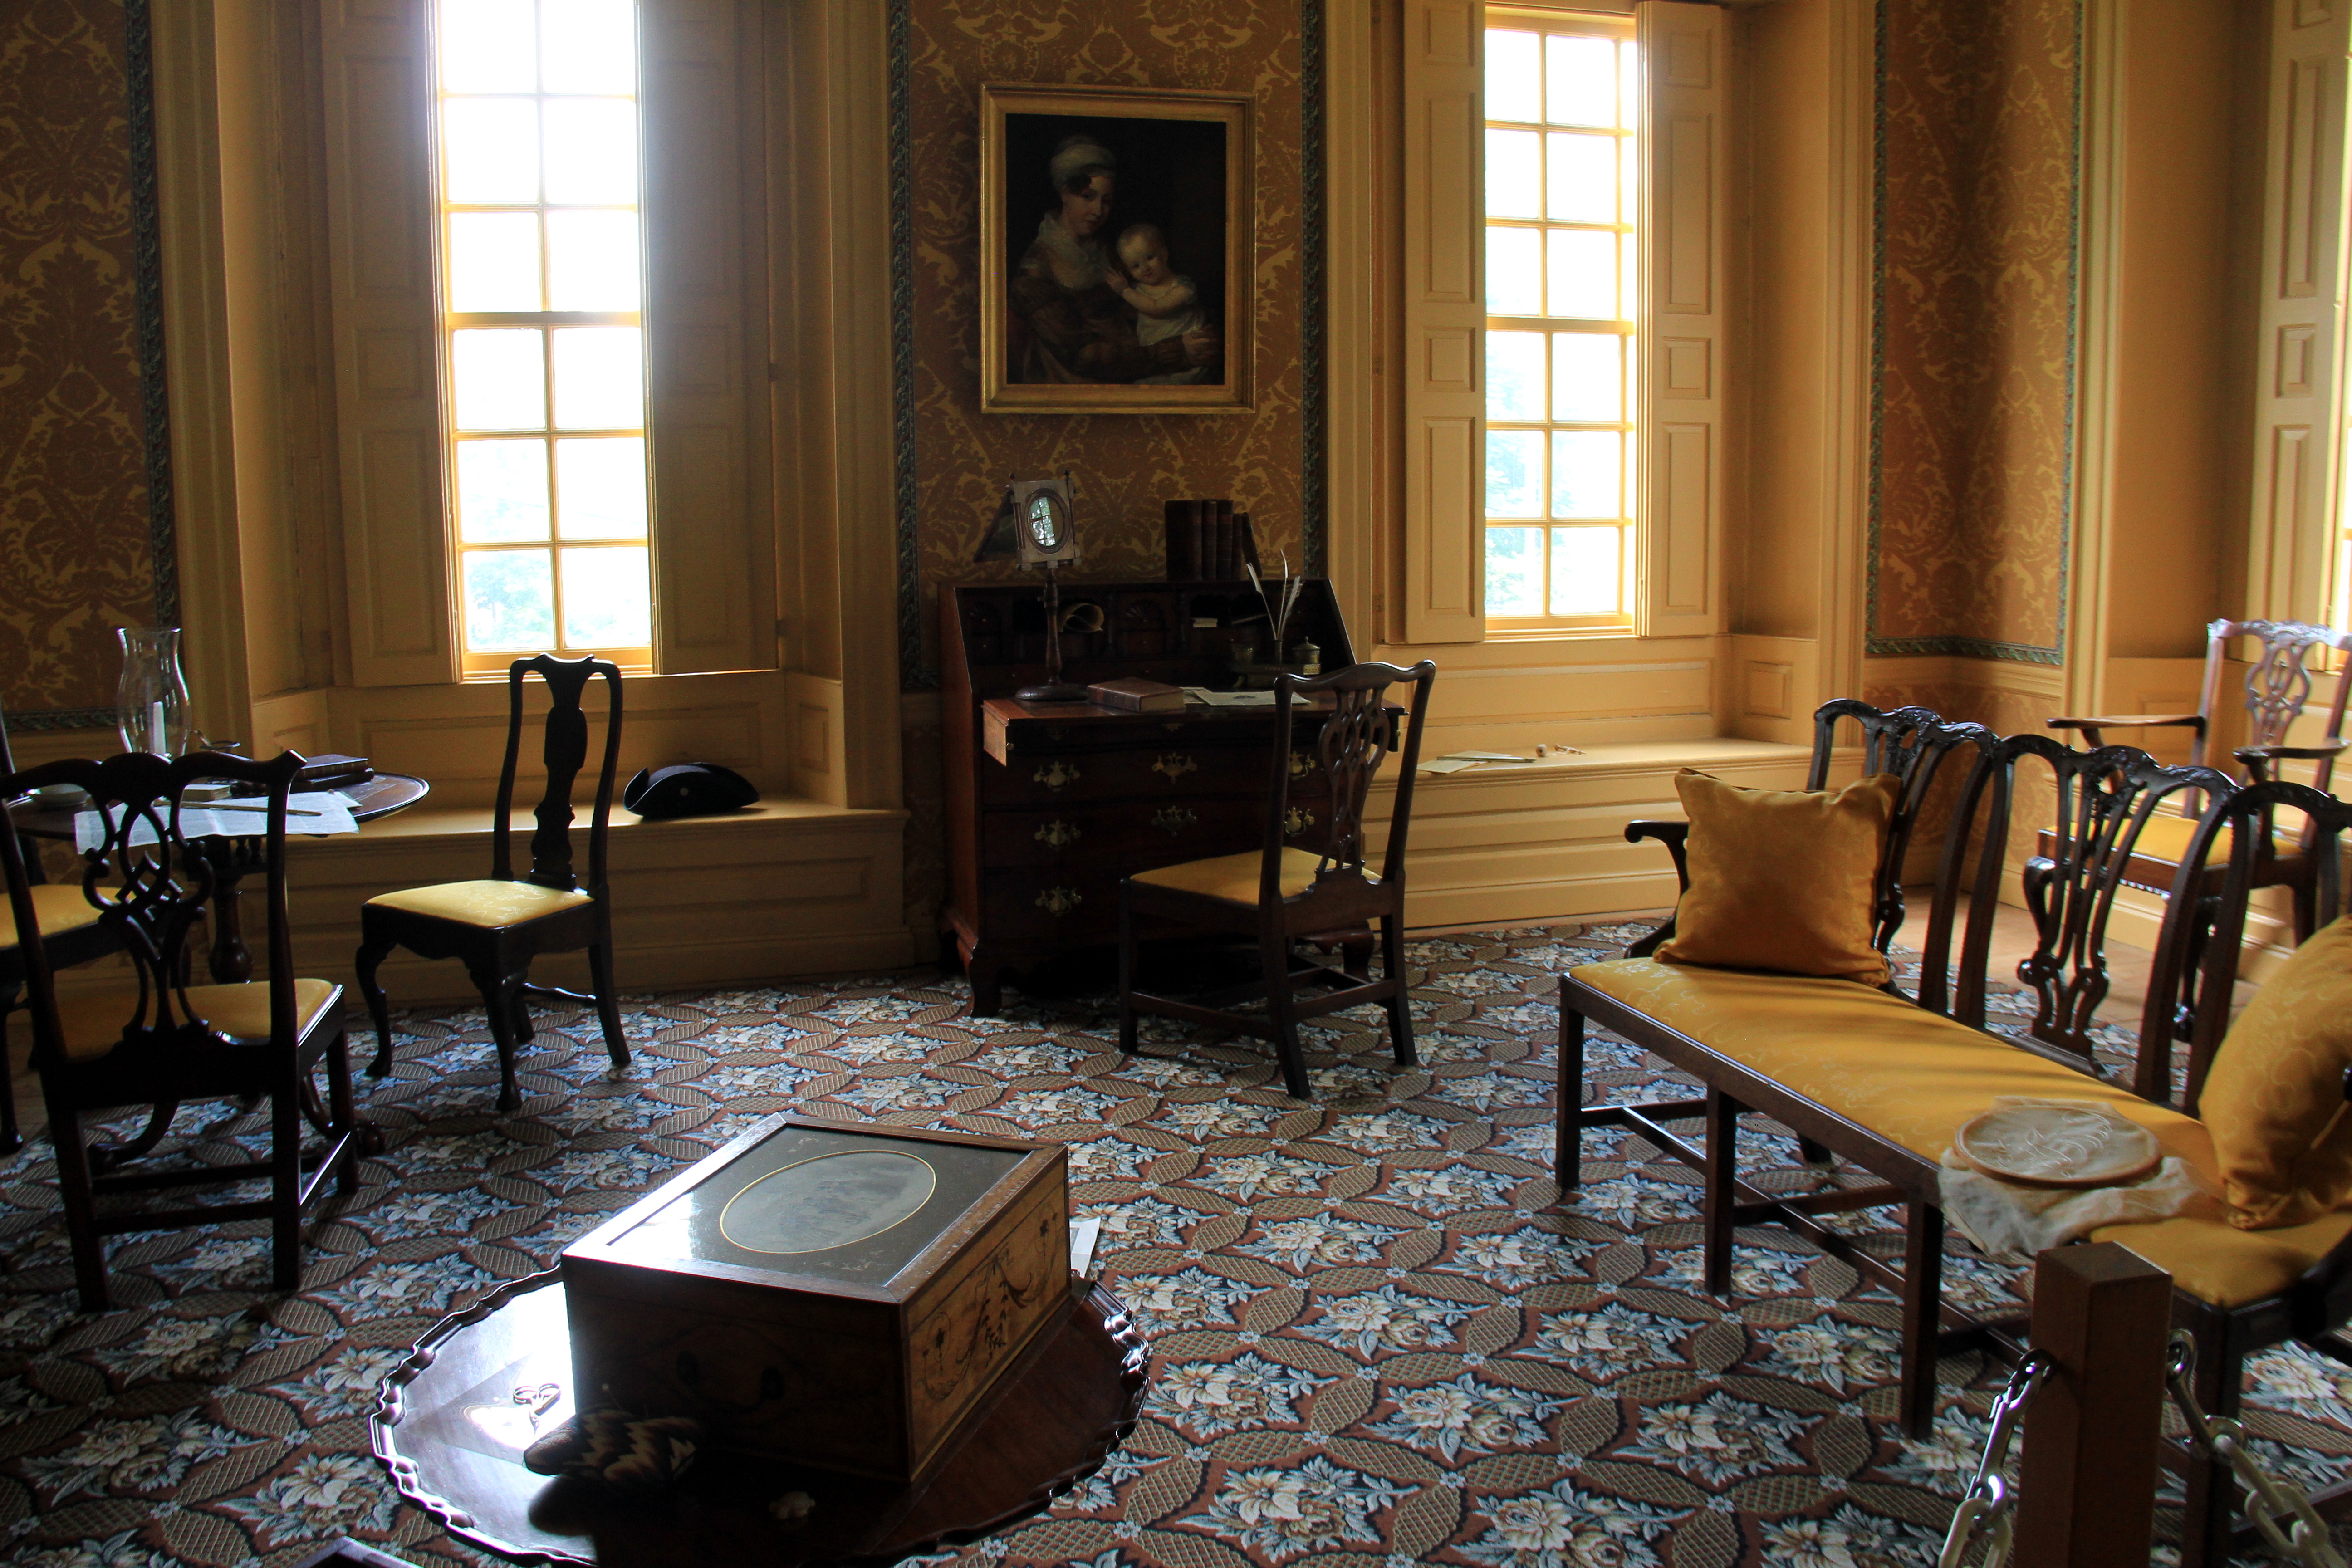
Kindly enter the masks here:
<path id="1" fill-rule="evenodd" d="M 113 708 L 155 618 L 122 0 L 0 7 L 0 703 Z"/>

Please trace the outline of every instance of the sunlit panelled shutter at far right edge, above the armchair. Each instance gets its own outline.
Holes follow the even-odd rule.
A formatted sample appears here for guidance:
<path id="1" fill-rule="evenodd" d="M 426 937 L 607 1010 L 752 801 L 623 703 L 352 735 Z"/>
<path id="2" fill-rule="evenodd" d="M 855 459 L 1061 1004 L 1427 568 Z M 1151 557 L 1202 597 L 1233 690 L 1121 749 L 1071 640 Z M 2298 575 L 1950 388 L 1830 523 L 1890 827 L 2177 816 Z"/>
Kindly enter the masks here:
<path id="1" fill-rule="evenodd" d="M 2246 616 L 2319 621 L 2336 520 L 2345 306 L 2343 5 L 2272 0 Z M 2336 611 L 2343 614 L 2343 611 Z"/>

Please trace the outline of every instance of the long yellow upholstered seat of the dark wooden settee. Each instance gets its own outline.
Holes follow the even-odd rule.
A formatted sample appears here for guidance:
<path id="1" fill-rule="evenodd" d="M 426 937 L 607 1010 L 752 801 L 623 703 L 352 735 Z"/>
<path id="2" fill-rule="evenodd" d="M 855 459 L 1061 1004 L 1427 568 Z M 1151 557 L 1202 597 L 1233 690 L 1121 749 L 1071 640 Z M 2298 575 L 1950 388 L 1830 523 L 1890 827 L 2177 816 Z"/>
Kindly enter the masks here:
<path id="1" fill-rule="evenodd" d="M 1853 980 L 1661 959 L 1609 959 L 1569 973 L 1922 1159 L 1943 1159 L 1959 1126 L 2002 1095 L 2105 1100 L 2220 1187 L 2213 1140 L 2194 1117 Z M 2277 1295 L 2345 1234 L 2352 1213 L 2256 1232 L 2173 1218 L 2110 1225 L 2093 1239 L 2122 1241 L 2183 1291 L 2237 1307 Z"/>

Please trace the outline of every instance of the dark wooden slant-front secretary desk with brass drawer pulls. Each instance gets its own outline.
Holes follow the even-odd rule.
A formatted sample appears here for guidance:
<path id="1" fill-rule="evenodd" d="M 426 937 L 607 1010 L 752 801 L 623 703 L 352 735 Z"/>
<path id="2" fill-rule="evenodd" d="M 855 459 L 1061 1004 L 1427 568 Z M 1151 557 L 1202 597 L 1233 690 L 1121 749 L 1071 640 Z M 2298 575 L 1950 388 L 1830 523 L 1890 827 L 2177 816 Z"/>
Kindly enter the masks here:
<path id="1" fill-rule="evenodd" d="M 941 931 L 971 976 L 971 1011 L 1002 1001 L 1007 971 L 1117 940 L 1120 877 L 1263 844 L 1272 708 L 1117 712 L 1016 703 L 1044 679 L 1040 583 L 948 588 L 938 597 L 948 773 L 948 905 Z M 1063 672 L 1077 684 L 1141 675 L 1232 686 L 1235 646 L 1263 654 L 1249 583 L 1063 583 Z M 1331 583 L 1308 578 L 1289 639 L 1322 668 L 1355 663 Z M 1291 719 L 1289 832 L 1324 846 L 1329 780 L 1310 708 Z M 1145 929 L 1148 933 L 1148 929 Z"/>

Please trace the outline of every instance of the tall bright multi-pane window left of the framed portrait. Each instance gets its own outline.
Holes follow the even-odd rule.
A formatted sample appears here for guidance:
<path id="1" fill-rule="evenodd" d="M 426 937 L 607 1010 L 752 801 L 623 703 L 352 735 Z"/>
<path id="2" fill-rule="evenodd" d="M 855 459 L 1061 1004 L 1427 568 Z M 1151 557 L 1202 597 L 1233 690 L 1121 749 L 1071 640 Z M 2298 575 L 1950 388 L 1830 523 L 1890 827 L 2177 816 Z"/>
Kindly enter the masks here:
<path id="1" fill-rule="evenodd" d="M 437 0 L 466 668 L 649 663 L 635 0 Z"/>

